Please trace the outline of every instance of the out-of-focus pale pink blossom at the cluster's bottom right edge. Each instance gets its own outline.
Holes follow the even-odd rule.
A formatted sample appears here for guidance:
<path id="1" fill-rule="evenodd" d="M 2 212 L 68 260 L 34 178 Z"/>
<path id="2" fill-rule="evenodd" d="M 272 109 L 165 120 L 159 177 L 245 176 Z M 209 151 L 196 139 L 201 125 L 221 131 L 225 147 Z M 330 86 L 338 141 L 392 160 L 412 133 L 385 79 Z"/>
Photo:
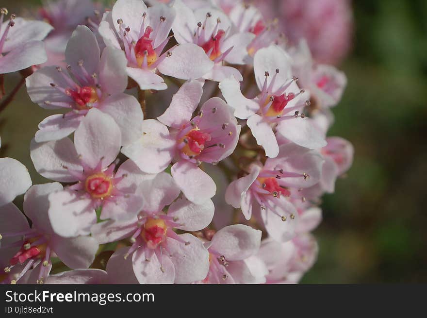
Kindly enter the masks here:
<path id="1" fill-rule="evenodd" d="M 267 284 L 296 284 L 309 270 L 318 253 L 318 245 L 309 232 L 322 219 L 319 208 L 309 208 L 300 215 L 296 236 L 287 242 L 266 238 L 261 242 L 257 257 L 268 269 Z"/>

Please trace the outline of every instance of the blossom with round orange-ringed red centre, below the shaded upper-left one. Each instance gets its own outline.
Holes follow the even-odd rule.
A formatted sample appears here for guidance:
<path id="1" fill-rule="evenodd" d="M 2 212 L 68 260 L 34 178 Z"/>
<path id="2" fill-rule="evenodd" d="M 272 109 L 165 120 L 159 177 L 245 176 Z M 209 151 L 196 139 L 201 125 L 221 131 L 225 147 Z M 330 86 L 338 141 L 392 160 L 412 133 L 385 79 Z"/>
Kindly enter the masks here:
<path id="1" fill-rule="evenodd" d="M 114 119 L 93 108 L 74 133 L 74 145 L 67 137 L 44 143 L 32 141 L 31 159 L 37 172 L 51 180 L 75 183 L 49 195 L 49 218 L 57 234 L 89 234 L 99 207 L 101 219 L 129 219 L 138 213 L 141 197 L 122 183 L 130 176 L 120 168 L 114 172 L 112 164 L 120 140 Z"/>

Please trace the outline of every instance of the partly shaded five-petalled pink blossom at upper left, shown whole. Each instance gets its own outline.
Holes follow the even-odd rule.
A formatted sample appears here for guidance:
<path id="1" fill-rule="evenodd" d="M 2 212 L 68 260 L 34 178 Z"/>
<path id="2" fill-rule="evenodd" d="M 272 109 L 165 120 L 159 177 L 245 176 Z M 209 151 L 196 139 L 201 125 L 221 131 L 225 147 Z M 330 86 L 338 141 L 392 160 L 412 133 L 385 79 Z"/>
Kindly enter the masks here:
<path id="1" fill-rule="evenodd" d="M 95 35 L 79 26 L 68 41 L 65 55 L 66 69 L 44 67 L 26 79 L 33 102 L 46 109 L 70 110 L 65 115 L 45 118 L 35 141 L 66 137 L 79 127 L 91 108 L 115 119 L 121 130 L 121 145 L 135 140 L 141 134 L 144 116 L 138 101 L 123 93 L 128 83 L 123 52 L 105 48 L 101 55 Z"/>

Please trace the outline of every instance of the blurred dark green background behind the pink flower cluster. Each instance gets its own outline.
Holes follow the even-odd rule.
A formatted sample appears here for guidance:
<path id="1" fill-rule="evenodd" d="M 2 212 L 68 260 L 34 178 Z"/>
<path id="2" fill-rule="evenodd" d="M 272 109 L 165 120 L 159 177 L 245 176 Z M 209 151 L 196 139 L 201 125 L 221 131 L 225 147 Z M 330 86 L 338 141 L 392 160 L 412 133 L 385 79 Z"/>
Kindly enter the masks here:
<path id="1" fill-rule="evenodd" d="M 337 0 L 338 1 L 338 0 Z M 39 1 L 3 1 L 20 13 Z M 354 165 L 324 197 L 319 259 L 302 283 L 427 282 L 427 1 L 355 0 L 348 77 L 329 135 L 350 140 Z M 10 91 L 19 77 L 5 77 Z M 50 115 L 22 88 L 0 115 L 0 156 L 26 165 Z M 18 198 L 18 201 L 22 200 Z"/>

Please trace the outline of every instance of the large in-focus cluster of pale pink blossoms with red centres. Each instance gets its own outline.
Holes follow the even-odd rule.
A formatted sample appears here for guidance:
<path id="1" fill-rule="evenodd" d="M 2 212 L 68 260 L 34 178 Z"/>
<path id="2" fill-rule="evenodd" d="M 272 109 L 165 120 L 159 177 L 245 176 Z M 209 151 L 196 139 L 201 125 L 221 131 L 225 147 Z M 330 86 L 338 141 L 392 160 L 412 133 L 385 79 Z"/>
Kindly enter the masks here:
<path id="1" fill-rule="evenodd" d="M 30 143 L 51 183 L 0 158 L 0 282 L 297 283 L 315 262 L 353 158 L 328 136 L 344 73 L 243 1 L 161 2 L 0 9 L 1 80 L 57 112 Z"/>

